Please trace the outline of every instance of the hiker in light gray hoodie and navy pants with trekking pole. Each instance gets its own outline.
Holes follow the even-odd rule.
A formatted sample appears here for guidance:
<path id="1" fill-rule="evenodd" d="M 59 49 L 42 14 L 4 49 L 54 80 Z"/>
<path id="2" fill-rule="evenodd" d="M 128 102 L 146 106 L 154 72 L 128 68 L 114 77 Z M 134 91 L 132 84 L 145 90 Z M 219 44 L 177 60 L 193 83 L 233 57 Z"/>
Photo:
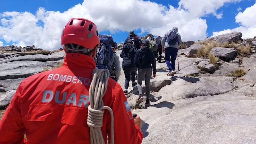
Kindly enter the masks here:
<path id="1" fill-rule="evenodd" d="M 174 31 L 177 36 L 175 38 L 176 42 L 173 45 L 168 44 L 168 36 L 171 34 L 171 31 Z M 167 76 L 173 76 L 175 73 L 174 72 L 175 59 L 176 59 L 177 52 L 178 52 L 178 49 L 180 48 L 181 44 L 182 44 L 181 35 L 178 33 L 177 27 L 173 27 L 172 30 L 167 31 L 161 40 L 162 50 L 165 51 L 165 62 L 169 68 L 169 72 L 168 72 Z M 171 59 L 171 62 L 170 62 L 170 59 Z"/>

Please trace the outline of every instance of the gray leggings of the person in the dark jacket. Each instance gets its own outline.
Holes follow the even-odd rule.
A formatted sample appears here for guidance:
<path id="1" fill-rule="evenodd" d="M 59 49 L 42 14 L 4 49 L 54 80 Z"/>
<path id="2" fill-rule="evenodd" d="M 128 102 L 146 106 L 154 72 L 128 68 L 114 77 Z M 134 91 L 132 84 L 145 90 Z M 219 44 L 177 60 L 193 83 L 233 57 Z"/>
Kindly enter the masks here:
<path id="1" fill-rule="evenodd" d="M 149 93 L 150 93 L 150 89 L 149 89 L 149 83 L 150 83 L 150 79 L 151 79 L 151 74 L 152 74 L 152 69 L 151 68 L 144 68 L 144 69 L 139 69 L 138 70 L 138 76 L 137 76 L 137 82 L 138 82 L 138 91 L 139 94 L 142 94 L 142 80 L 143 77 L 145 75 L 145 86 L 146 86 L 146 96 L 147 99 L 149 99 Z"/>

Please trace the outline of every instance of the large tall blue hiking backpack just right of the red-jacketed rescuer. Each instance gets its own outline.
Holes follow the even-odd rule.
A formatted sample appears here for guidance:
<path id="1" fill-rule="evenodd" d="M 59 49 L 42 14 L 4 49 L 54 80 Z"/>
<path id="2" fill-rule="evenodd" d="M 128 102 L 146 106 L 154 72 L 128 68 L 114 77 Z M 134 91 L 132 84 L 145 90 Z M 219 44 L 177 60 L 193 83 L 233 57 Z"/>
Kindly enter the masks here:
<path id="1" fill-rule="evenodd" d="M 97 49 L 97 54 L 94 58 L 96 67 L 99 69 L 108 69 L 111 72 L 111 61 L 114 46 L 114 40 L 111 35 L 99 35 L 100 46 Z"/>

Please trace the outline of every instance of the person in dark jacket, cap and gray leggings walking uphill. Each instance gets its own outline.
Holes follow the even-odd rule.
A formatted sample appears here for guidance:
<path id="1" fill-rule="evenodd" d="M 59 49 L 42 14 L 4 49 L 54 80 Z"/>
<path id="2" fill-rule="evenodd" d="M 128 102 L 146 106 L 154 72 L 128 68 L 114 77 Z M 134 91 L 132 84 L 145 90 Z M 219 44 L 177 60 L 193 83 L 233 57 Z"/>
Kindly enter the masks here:
<path id="1" fill-rule="evenodd" d="M 143 40 L 142 47 L 136 51 L 135 57 L 135 66 L 138 68 L 138 91 L 139 98 L 137 99 L 137 103 L 141 103 L 143 101 L 142 96 L 142 79 L 145 76 L 145 86 L 146 86 L 146 106 L 149 106 L 149 83 L 152 75 L 153 69 L 153 78 L 156 77 L 157 69 L 156 69 L 156 60 L 155 55 L 152 50 L 149 49 L 149 41 Z"/>

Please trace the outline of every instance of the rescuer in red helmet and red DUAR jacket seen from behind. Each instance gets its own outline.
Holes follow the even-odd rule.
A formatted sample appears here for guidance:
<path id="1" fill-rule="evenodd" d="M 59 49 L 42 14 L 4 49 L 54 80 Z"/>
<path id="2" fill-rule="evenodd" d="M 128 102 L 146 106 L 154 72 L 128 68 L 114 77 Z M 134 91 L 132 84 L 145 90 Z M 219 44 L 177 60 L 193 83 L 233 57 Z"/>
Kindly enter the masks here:
<path id="1" fill-rule="evenodd" d="M 89 87 L 100 45 L 97 26 L 72 18 L 61 35 L 63 66 L 23 80 L 0 121 L 0 144 L 89 144 Z M 140 144 L 142 120 L 135 119 L 121 86 L 113 79 L 103 97 L 114 113 L 115 144 Z M 111 136 L 110 113 L 104 112 L 104 141 Z"/>

